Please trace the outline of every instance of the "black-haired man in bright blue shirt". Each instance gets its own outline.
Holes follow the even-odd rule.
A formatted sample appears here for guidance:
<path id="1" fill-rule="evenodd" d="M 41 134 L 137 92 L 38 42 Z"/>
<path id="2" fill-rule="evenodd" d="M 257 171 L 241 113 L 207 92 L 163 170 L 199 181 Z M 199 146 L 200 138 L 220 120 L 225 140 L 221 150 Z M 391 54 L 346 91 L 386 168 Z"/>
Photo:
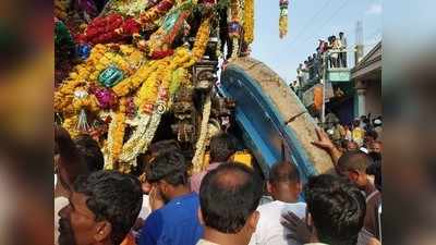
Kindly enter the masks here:
<path id="1" fill-rule="evenodd" d="M 179 150 L 164 151 L 147 164 L 146 180 L 152 193 L 166 205 L 153 211 L 141 230 L 138 245 L 194 245 L 203 235 L 197 210 L 198 195 L 191 193 L 187 166 Z"/>

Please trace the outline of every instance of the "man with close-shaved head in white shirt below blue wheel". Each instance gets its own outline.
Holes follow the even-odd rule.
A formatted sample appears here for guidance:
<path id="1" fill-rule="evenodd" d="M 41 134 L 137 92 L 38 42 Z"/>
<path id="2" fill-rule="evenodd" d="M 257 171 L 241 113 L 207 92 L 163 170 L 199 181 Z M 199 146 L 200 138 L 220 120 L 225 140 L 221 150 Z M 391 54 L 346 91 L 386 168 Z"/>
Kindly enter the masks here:
<path id="1" fill-rule="evenodd" d="M 267 188 L 274 201 L 257 208 L 261 219 L 250 244 L 288 245 L 289 242 L 283 236 L 288 231 L 280 224 L 281 215 L 292 211 L 299 218 L 303 218 L 306 210 L 304 203 L 298 203 L 302 189 L 299 170 L 289 161 L 274 164 L 269 171 Z M 294 243 L 296 241 L 291 244 Z"/>

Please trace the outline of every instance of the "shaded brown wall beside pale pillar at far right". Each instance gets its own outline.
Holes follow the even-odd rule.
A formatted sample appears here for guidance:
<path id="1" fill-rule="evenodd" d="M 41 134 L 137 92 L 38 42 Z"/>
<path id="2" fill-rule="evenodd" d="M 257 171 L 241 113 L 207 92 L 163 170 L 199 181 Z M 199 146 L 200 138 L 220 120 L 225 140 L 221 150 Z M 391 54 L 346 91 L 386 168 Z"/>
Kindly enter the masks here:
<path id="1" fill-rule="evenodd" d="M 365 111 L 372 115 L 383 114 L 382 81 L 366 82 Z"/>

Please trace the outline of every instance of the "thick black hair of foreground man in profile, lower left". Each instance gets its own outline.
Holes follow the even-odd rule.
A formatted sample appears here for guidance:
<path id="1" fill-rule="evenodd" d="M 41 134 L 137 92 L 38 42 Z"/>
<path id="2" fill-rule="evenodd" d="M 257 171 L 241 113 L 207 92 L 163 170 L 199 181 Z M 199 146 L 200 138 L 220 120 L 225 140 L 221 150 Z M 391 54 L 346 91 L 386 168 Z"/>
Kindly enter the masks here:
<path id="1" fill-rule="evenodd" d="M 112 226 L 110 240 L 120 244 L 136 221 L 143 204 L 140 181 L 116 171 L 97 171 L 81 175 L 74 191 L 87 196 L 86 205 L 96 221 L 107 220 Z"/>

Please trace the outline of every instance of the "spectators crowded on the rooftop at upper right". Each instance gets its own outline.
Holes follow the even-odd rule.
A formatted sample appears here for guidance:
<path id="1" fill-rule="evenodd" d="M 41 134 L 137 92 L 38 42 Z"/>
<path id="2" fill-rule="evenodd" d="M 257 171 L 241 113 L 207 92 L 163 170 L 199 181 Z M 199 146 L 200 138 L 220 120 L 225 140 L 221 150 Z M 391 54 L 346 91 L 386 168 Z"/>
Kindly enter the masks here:
<path id="1" fill-rule="evenodd" d="M 327 63 L 326 53 L 329 53 L 329 68 L 347 68 L 347 38 L 342 32 L 339 33 L 339 36 L 329 36 L 327 40 L 319 39 L 316 52 L 307 57 L 296 69 L 299 85 L 323 77 L 323 65 Z"/>

